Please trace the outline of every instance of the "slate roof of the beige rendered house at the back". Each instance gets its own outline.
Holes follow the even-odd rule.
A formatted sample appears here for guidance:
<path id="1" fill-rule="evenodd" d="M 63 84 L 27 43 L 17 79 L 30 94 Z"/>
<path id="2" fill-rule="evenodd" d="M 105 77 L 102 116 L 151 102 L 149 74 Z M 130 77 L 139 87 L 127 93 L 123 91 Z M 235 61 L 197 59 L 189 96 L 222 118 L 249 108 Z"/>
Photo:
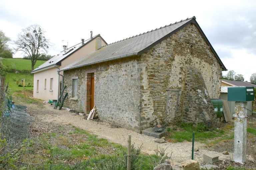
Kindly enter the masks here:
<path id="1" fill-rule="evenodd" d="M 100 36 L 100 34 L 98 34 L 98 35 L 94 36 L 92 39 L 85 40 L 83 45 L 82 45 L 82 42 L 80 42 L 74 46 L 71 46 L 68 49 L 61 51 L 60 53 L 58 53 L 57 55 L 55 55 L 54 57 L 52 57 L 51 59 L 49 59 L 42 65 L 40 65 L 39 67 L 35 68 L 33 71 L 31 71 L 31 73 L 43 71 L 49 67 L 52 68 L 52 66 L 54 66 L 55 64 L 58 65 L 59 62 L 61 62 L 66 57 L 70 56 L 72 53 L 74 53 L 75 51 L 77 51 L 78 49 L 80 49 L 81 47 L 83 47 L 84 45 L 91 42 L 92 40 L 94 40 L 97 37 L 100 37 L 103 40 L 103 38 Z M 105 42 L 105 40 L 103 40 L 103 41 Z"/>

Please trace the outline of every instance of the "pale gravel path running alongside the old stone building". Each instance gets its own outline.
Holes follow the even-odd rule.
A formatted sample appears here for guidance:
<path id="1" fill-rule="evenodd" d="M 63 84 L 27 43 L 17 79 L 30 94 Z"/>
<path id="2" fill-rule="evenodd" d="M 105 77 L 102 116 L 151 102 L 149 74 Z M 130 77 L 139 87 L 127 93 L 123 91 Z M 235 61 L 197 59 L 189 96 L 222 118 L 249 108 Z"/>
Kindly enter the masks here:
<path id="1" fill-rule="evenodd" d="M 99 138 L 105 138 L 110 142 L 119 143 L 123 146 L 127 146 L 128 134 L 131 134 L 132 143 L 135 143 L 136 147 L 143 144 L 142 152 L 145 154 L 154 154 L 154 150 L 158 146 L 158 148 L 167 148 L 166 153 L 168 153 L 168 156 L 171 156 L 172 159 L 176 161 L 191 159 L 192 142 L 156 143 L 154 142 L 154 137 L 140 134 L 125 128 L 115 128 L 105 122 L 88 121 L 83 119 L 83 116 L 79 116 L 75 113 L 71 113 L 66 110 L 55 110 L 53 109 L 53 106 L 49 104 L 43 104 L 42 107 L 36 107 L 36 105 L 28 106 L 28 112 L 32 117 L 43 122 L 52 122 L 62 125 L 72 124 L 78 128 L 98 135 Z M 221 160 L 233 158 L 233 153 L 230 153 L 230 155 L 224 155 L 219 152 L 205 150 L 203 148 L 204 144 L 200 142 L 195 142 L 195 146 L 199 147 L 199 151 L 194 153 L 194 159 L 200 163 L 202 163 L 203 154 L 209 152 L 219 155 L 219 159 Z"/>

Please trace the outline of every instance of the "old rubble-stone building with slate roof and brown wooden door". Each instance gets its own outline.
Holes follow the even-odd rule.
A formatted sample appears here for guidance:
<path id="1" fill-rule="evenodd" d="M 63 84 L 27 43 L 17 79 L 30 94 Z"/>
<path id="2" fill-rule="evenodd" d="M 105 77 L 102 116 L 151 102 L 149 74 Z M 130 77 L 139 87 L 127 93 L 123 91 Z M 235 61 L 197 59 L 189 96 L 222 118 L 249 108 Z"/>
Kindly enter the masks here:
<path id="1" fill-rule="evenodd" d="M 211 98 L 219 98 L 219 56 L 187 18 L 102 46 L 64 67 L 64 106 L 141 131 L 180 122 L 218 126 Z"/>

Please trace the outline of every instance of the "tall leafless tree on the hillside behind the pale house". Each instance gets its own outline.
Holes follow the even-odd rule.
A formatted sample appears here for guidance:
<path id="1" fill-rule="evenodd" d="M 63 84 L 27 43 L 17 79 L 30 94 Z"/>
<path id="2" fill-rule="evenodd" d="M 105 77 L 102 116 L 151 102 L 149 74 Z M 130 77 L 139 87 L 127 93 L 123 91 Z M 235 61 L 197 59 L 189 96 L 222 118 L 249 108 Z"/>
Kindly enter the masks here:
<path id="1" fill-rule="evenodd" d="M 23 51 L 31 60 L 31 69 L 34 70 L 34 65 L 41 54 L 48 52 L 50 42 L 45 38 L 45 32 L 39 25 L 31 25 L 18 35 L 16 51 Z"/>

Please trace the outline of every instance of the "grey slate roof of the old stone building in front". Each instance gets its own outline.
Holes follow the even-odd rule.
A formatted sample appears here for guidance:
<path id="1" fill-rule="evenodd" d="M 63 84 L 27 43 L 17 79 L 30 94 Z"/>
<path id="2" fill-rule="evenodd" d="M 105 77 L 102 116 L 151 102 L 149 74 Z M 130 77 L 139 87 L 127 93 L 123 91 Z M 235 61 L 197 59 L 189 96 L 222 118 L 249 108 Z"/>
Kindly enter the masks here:
<path id="1" fill-rule="evenodd" d="M 185 20 L 181 20 L 179 22 L 175 22 L 173 24 L 145 32 L 143 34 L 139 34 L 127 39 L 107 44 L 105 46 L 102 46 L 100 49 L 86 55 L 85 57 L 71 63 L 70 65 L 62 68 L 59 71 L 69 70 L 132 55 L 139 56 L 190 23 L 194 23 L 197 26 L 200 33 L 203 35 L 206 42 L 212 49 L 215 57 L 219 61 L 222 69 L 227 70 L 195 19 L 196 17 L 187 18 Z"/>

